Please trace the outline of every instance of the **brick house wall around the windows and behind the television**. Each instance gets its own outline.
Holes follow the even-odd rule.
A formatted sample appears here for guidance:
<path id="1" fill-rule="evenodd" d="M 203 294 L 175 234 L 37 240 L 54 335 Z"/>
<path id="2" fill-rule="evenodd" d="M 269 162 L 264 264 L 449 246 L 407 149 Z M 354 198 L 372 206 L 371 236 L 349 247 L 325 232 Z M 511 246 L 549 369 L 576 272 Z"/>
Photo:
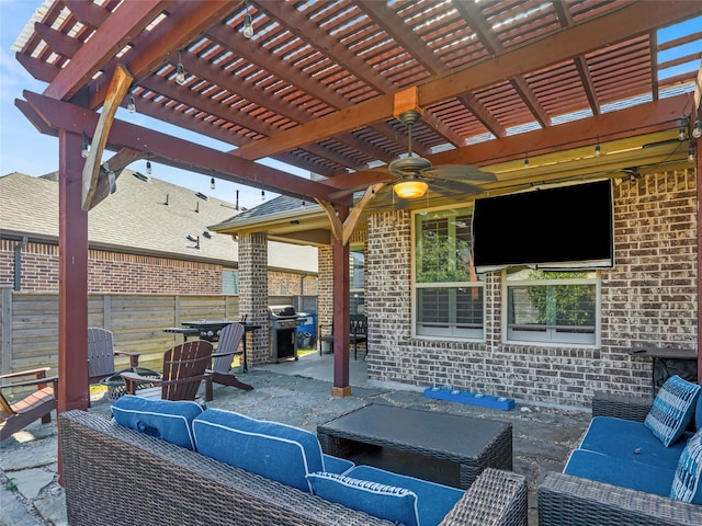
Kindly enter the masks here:
<path id="1" fill-rule="evenodd" d="M 589 407 L 593 391 L 649 395 L 650 362 L 633 345 L 697 348 L 697 180 L 680 170 L 614 190 L 615 267 L 601 271 L 599 347 L 501 342 L 502 275 L 486 279 L 486 341 L 411 338 L 409 213 L 369 219 L 369 377 L 519 400 Z M 325 275 L 320 256 L 320 278 Z"/>

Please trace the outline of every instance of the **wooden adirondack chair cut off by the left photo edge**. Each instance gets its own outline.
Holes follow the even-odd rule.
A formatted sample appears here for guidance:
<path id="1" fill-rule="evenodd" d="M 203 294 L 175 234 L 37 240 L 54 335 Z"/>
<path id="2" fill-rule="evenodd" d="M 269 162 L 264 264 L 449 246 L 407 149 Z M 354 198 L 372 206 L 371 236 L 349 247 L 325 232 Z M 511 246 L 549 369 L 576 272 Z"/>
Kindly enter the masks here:
<path id="1" fill-rule="evenodd" d="M 52 421 L 52 411 L 56 409 L 58 377 L 47 377 L 48 369 L 49 367 L 42 367 L 0 376 L 0 381 L 34 376 L 33 380 L 14 381 L 0 386 L 0 423 L 2 423 L 0 441 L 4 441 L 13 433 L 23 430 L 37 419 L 42 419 L 43 424 L 48 424 Z M 32 391 L 14 403 L 10 403 L 2 393 L 2 389 L 27 386 L 36 386 L 36 391 Z"/>

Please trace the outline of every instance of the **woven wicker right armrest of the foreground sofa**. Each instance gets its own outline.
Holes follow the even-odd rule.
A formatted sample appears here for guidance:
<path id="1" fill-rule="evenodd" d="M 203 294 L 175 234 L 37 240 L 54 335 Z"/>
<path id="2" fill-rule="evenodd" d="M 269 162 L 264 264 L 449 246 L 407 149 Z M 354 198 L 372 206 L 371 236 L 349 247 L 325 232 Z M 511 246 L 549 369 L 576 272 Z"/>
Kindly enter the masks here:
<path id="1" fill-rule="evenodd" d="M 526 479 L 522 474 L 485 469 L 440 523 L 440 526 L 526 524 Z"/>

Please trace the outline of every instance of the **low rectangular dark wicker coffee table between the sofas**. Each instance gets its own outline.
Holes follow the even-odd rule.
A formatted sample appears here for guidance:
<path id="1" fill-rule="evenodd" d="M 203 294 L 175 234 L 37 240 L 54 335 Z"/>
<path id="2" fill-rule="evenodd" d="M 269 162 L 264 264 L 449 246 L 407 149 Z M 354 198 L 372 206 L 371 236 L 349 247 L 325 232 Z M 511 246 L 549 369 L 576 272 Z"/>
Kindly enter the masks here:
<path id="1" fill-rule="evenodd" d="M 507 422 L 370 404 L 318 425 L 317 437 L 326 454 L 342 458 L 373 445 L 457 464 L 462 489 L 487 467 L 512 469 L 512 424 Z"/>

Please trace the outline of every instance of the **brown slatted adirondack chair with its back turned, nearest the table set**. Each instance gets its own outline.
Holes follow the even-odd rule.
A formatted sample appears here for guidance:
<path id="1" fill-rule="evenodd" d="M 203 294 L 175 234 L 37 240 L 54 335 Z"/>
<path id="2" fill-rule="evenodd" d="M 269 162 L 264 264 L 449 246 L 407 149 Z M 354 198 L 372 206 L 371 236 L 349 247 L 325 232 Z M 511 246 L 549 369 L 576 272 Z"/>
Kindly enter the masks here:
<path id="1" fill-rule="evenodd" d="M 192 340 L 169 348 L 163 354 L 163 375 L 149 378 L 137 373 L 121 373 L 128 395 L 161 400 L 195 400 L 200 384 L 205 381 L 205 401 L 213 399 L 212 375 L 207 368 L 212 364 L 212 343 Z M 156 387 L 138 389 L 139 382 L 152 382 Z"/>

